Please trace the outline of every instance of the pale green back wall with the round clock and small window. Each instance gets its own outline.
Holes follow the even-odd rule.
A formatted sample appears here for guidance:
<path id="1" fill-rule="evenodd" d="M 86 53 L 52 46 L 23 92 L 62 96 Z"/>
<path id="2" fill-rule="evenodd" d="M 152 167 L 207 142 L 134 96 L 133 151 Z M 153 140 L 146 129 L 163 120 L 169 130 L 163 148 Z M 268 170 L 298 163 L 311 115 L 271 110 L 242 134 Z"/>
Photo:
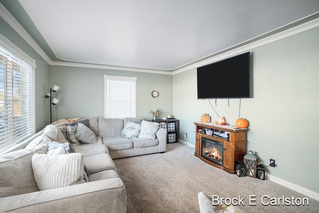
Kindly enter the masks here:
<path id="1" fill-rule="evenodd" d="M 71 117 L 104 117 L 104 75 L 137 77 L 137 116 L 152 119 L 151 109 L 160 110 L 159 118 L 172 114 L 172 75 L 133 71 L 50 67 L 50 85 L 60 86 L 54 97 L 54 119 Z M 151 92 L 159 91 L 153 98 Z"/>

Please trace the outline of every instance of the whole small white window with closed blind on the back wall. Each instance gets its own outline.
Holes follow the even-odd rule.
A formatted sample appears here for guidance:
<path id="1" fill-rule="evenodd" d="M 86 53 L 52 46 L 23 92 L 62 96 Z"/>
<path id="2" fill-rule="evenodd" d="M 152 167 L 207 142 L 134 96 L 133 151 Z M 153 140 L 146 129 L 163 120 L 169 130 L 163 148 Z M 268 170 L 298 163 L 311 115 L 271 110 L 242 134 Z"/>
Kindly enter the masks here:
<path id="1" fill-rule="evenodd" d="M 105 117 L 136 117 L 136 77 L 104 76 Z"/>

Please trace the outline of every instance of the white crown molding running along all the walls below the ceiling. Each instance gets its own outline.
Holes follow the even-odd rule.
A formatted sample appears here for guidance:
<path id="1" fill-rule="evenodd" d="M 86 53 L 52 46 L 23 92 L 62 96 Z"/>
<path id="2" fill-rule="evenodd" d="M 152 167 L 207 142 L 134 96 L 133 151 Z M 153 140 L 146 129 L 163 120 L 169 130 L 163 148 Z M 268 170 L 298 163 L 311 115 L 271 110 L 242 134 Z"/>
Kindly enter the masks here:
<path id="1" fill-rule="evenodd" d="M 27 33 L 27 31 L 18 23 L 18 21 L 10 14 L 10 12 L 0 3 L 0 17 L 7 22 L 49 65 L 58 65 L 58 66 L 73 66 L 73 67 L 84 67 L 84 68 L 96 68 L 96 69 L 112 69 L 112 70 L 123 70 L 123 71 L 133 71 L 133 72 L 146 72 L 146 73 L 154 73 L 154 74 L 165 74 L 165 75 L 175 75 L 181 73 L 183 71 L 197 68 L 206 64 L 214 63 L 219 60 L 234 56 L 236 54 L 248 51 L 252 48 L 262 46 L 264 44 L 271 43 L 273 41 L 277 41 L 279 39 L 306 31 L 308 29 L 315 28 L 319 26 L 319 18 L 308 21 L 306 23 L 300 24 L 298 26 L 292 27 L 290 29 L 284 30 L 282 32 L 276 33 L 274 35 L 268 36 L 266 38 L 254 41 L 252 43 L 240 46 L 238 48 L 227 51 L 227 49 L 231 49 L 229 47 L 227 49 L 214 53 L 209 57 L 203 57 L 202 59 L 198 59 L 189 63 L 189 65 L 185 64 L 180 68 L 169 69 L 169 70 L 156 70 L 156 69 L 145 69 L 145 68 L 135 68 L 135 67 L 123 67 L 123 66 L 111 66 L 111 65 L 100 65 L 100 64 L 89 64 L 89 63 L 77 63 L 77 62 L 59 62 L 52 61 L 47 54 L 41 49 L 41 47 L 33 40 L 33 38 Z M 267 33 L 265 33 L 267 34 Z M 255 38 L 253 38 L 255 39 Z M 253 40 L 250 39 L 250 40 Z M 245 41 L 245 42 L 249 42 Z M 242 43 L 245 43 L 242 42 Z M 238 46 L 237 44 L 235 46 Z M 225 52 L 226 51 L 226 52 Z M 209 57 L 209 58 L 207 58 Z M 207 59 L 204 59 L 207 58 Z"/>

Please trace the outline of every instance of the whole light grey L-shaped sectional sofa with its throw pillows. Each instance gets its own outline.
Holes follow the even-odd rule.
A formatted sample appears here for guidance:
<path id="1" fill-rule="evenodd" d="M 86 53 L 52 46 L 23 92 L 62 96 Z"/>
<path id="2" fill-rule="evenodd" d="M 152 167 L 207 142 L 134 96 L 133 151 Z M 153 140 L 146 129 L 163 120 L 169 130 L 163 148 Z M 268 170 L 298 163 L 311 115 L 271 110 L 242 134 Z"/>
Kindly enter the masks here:
<path id="1" fill-rule="evenodd" d="M 139 118 L 48 125 L 24 149 L 0 156 L 0 212 L 126 213 L 112 157 L 165 152 L 166 134 Z"/>

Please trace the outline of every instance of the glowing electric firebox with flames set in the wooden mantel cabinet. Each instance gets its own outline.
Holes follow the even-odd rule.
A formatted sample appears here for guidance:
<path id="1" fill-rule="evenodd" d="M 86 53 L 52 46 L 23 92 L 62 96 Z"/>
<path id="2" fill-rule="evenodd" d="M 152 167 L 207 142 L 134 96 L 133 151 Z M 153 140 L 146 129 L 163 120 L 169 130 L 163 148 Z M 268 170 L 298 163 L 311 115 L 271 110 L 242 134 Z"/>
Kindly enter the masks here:
<path id="1" fill-rule="evenodd" d="M 201 155 L 209 161 L 223 165 L 224 144 L 202 137 Z"/>

